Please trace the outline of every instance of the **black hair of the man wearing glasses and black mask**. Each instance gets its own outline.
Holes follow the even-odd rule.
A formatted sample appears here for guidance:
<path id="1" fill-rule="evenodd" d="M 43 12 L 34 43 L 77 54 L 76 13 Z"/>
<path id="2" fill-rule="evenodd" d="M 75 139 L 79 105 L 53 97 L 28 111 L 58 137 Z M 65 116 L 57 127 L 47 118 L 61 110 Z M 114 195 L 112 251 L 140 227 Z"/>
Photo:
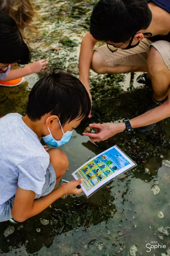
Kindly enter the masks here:
<path id="1" fill-rule="evenodd" d="M 96 40 L 124 43 L 152 20 L 147 0 L 99 0 L 91 14 L 90 33 Z"/>

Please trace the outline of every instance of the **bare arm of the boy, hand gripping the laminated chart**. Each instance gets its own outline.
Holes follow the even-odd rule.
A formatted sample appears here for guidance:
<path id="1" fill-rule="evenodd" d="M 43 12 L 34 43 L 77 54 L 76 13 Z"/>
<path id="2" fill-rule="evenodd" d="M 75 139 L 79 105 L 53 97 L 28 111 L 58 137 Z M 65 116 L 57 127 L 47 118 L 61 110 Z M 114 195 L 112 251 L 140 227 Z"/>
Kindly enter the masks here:
<path id="1" fill-rule="evenodd" d="M 12 208 L 12 218 L 15 221 L 22 222 L 28 218 L 37 215 L 46 209 L 50 204 L 60 198 L 62 195 L 80 194 L 82 189 L 77 189 L 77 186 L 82 183 L 82 179 L 77 181 L 72 180 L 69 183 L 61 184 L 57 189 L 54 189 L 50 194 L 41 197 L 37 200 L 35 192 L 25 190 L 18 187 L 15 195 L 14 205 Z"/>

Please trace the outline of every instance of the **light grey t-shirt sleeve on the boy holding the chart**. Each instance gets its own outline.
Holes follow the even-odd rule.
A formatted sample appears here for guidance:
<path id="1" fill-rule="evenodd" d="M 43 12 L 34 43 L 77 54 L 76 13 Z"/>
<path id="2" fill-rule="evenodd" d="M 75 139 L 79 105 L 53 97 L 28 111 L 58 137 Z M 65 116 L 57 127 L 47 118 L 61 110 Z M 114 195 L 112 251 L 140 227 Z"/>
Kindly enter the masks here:
<path id="1" fill-rule="evenodd" d="M 46 156 L 30 157 L 19 163 L 16 168 L 18 186 L 21 189 L 41 194 L 45 183 L 45 174 L 50 160 Z"/>

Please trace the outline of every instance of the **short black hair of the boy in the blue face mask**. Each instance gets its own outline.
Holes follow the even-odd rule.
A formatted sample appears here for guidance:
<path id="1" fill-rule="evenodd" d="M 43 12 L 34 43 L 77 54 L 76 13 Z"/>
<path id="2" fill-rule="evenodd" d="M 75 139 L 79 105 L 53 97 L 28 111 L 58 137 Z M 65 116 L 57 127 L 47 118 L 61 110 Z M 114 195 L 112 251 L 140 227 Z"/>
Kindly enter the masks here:
<path id="1" fill-rule="evenodd" d="M 31 121 L 38 121 L 47 113 L 59 116 L 61 125 L 74 119 L 87 118 L 91 100 L 79 79 L 67 72 L 56 72 L 40 79 L 32 88 L 26 114 Z"/>

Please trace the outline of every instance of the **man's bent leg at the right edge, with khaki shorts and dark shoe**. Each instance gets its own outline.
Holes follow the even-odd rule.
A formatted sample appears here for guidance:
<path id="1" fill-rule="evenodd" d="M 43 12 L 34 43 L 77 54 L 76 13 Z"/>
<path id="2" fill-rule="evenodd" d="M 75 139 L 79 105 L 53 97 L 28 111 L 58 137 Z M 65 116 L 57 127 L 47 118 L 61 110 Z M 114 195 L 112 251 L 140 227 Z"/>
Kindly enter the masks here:
<path id="1" fill-rule="evenodd" d="M 170 43 L 156 41 L 151 44 L 147 58 L 148 75 L 153 87 L 153 100 L 145 112 L 160 106 L 167 100 L 170 91 Z M 139 128 L 140 132 L 150 131 L 156 124 Z"/>

